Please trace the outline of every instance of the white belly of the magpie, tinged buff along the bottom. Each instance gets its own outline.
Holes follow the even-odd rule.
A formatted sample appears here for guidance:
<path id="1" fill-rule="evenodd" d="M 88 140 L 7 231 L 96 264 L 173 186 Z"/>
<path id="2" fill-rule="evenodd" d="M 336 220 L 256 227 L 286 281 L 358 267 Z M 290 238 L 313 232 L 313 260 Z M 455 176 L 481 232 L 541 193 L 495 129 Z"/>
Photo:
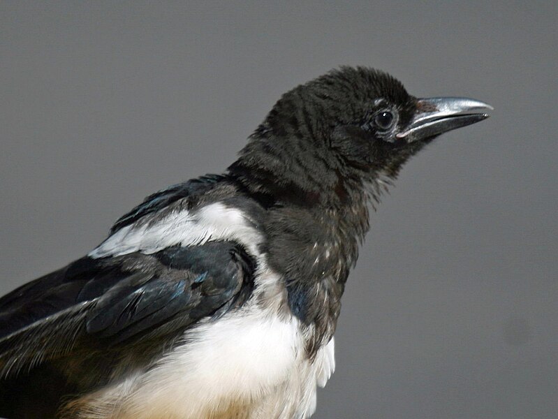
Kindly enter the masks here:
<path id="1" fill-rule="evenodd" d="M 316 385 L 335 369 L 333 339 L 309 362 L 296 318 L 254 308 L 201 325 L 185 339 L 148 372 L 88 397 L 80 410 L 91 414 L 80 418 L 309 418 Z"/>

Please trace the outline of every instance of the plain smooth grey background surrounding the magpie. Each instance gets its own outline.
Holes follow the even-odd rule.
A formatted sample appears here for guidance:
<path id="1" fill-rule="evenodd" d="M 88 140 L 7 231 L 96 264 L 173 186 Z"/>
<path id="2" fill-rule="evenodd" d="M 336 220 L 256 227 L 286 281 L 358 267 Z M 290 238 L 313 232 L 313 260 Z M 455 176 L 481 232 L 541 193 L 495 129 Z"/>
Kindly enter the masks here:
<path id="1" fill-rule="evenodd" d="M 557 418 L 557 3 L 0 3 L 0 292 L 341 64 L 471 96 L 372 216 L 316 418 Z"/>

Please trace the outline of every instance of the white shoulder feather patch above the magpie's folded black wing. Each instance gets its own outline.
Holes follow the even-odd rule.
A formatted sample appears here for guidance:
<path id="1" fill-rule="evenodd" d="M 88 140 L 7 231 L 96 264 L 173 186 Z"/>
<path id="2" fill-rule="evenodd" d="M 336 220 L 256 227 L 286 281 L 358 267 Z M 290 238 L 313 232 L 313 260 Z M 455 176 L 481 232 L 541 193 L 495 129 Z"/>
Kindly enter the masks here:
<path id="1" fill-rule="evenodd" d="M 123 227 L 88 256 L 103 258 L 134 251 L 149 254 L 177 244 L 188 246 L 213 240 L 237 240 L 256 254 L 260 234 L 244 212 L 214 203 L 197 212 L 172 212 L 156 223 L 143 221 Z"/>

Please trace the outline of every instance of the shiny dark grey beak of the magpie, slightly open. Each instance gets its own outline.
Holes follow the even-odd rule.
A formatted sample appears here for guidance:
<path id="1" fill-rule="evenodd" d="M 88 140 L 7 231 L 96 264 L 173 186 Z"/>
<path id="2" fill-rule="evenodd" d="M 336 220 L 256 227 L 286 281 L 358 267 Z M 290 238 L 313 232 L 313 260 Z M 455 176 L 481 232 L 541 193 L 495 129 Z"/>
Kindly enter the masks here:
<path id="1" fill-rule="evenodd" d="M 469 98 L 418 99 L 417 113 L 404 132 L 396 134 L 407 142 L 423 140 L 455 128 L 474 124 L 490 115 L 493 110 L 487 103 Z"/>

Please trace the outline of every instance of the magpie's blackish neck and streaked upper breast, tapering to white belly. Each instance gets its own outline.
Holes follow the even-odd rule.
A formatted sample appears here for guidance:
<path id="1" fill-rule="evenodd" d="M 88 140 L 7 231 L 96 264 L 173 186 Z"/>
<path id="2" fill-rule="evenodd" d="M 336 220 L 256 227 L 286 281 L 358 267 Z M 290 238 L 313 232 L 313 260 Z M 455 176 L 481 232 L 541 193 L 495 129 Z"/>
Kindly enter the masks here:
<path id="1" fill-rule="evenodd" d="M 321 157 L 300 140 L 274 147 L 253 139 L 228 168 L 267 210 L 268 263 L 285 278 L 291 312 L 312 330 L 309 353 L 335 332 L 346 279 L 369 228 L 369 200 L 375 198 L 374 188 Z"/>

